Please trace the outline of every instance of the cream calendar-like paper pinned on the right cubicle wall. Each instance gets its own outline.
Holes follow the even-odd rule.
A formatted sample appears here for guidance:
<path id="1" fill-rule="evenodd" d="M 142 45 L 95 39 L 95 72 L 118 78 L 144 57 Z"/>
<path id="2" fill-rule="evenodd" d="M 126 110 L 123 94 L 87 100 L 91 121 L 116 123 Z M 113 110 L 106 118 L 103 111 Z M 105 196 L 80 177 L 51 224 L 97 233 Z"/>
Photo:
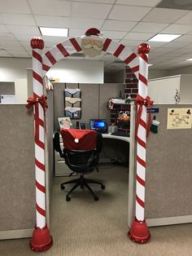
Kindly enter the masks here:
<path id="1" fill-rule="evenodd" d="M 168 108 L 167 129 L 191 129 L 192 108 Z"/>

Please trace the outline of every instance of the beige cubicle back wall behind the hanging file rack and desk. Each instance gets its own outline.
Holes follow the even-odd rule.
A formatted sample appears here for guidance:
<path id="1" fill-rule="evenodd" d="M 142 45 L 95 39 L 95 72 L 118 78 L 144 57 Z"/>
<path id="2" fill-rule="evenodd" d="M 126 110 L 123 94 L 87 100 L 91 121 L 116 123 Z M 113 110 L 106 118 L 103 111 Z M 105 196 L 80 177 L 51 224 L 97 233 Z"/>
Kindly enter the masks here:
<path id="1" fill-rule="evenodd" d="M 77 88 L 78 84 L 66 84 L 68 88 Z M 76 121 L 85 122 L 89 127 L 89 119 L 105 118 L 110 124 L 110 110 L 107 110 L 107 101 L 112 97 L 118 97 L 120 91 L 124 97 L 124 84 L 80 84 L 81 89 L 81 119 L 72 120 L 74 127 Z M 59 130 L 57 117 L 64 116 L 63 91 L 65 84 L 55 83 L 54 105 L 55 105 L 55 130 Z"/>

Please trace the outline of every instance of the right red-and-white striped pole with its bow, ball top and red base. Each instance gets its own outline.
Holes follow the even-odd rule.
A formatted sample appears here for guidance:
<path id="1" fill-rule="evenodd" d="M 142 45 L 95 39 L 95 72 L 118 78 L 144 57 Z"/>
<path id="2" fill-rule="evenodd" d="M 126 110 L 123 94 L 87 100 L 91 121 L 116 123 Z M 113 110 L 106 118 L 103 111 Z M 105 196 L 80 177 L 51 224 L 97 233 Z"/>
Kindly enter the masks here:
<path id="1" fill-rule="evenodd" d="M 142 43 L 138 46 L 139 54 L 139 81 L 137 104 L 137 176 L 136 176 L 136 208 L 135 218 L 129 230 L 129 238 L 137 243 L 146 243 L 151 234 L 145 221 L 145 186 L 146 186 L 146 107 L 153 103 L 147 96 L 148 53 L 150 46 Z M 148 127 L 149 128 L 149 127 Z"/>

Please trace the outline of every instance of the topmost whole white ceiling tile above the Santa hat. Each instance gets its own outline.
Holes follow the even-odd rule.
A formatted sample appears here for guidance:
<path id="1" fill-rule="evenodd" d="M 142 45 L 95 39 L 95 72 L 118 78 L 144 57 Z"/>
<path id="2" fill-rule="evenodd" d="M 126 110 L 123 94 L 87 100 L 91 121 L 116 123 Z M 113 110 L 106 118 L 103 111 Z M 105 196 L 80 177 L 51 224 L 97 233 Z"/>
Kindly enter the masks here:
<path id="1" fill-rule="evenodd" d="M 111 10 L 110 4 L 72 2 L 72 16 L 91 19 L 105 19 Z"/>

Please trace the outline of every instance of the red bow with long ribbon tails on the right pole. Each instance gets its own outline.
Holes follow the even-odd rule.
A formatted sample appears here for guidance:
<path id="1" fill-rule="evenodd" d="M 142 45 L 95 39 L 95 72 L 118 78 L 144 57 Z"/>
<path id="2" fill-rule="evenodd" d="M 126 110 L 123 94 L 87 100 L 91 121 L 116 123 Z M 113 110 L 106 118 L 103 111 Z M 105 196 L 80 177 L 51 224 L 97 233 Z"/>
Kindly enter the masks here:
<path id="1" fill-rule="evenodd" d="M 142 106 L 144 105 L 146 108 L 150 108 L 149 117 L 147 120 L 147 126 L 146 126 L 146 137 L 149 135 L 150 126 L 151 126 L 151 105 L 153 104 L 153 100 L 149 96 L 146 96 L 146 99 L 143 99 L 141 95 L 137 95 L 135 101 L 135 105 L 138 105 L 138 112 L 137 112 L 137 125 L 136 125 L 136 136 L 137 136 L 137 130 L 138 125 L 141 120 L 142 116 Z"/>

